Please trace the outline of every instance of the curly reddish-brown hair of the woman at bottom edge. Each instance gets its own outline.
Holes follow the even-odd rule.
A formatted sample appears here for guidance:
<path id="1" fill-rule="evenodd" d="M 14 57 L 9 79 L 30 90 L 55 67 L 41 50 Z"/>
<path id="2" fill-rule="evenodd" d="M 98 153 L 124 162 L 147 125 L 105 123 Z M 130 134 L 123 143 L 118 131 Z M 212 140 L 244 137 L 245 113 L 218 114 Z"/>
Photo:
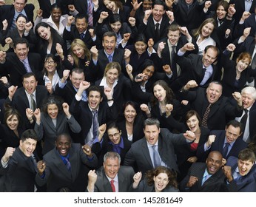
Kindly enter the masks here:
<path id="1" fill-rule="evenodd" d="M 147 171 L 145 174 L 146 183 L 149 186 L 154 185 L 154 177 L 157 177 L 158 174 L 161 173 L 165 173 L 168 176 L 169 183 L 166 185 L 166 187 L 173 186 L 175 189 L 178 189 L 177 173 L 172 169 L 166 168 L 165 166 L 158 166 L 155 169 Z"/>

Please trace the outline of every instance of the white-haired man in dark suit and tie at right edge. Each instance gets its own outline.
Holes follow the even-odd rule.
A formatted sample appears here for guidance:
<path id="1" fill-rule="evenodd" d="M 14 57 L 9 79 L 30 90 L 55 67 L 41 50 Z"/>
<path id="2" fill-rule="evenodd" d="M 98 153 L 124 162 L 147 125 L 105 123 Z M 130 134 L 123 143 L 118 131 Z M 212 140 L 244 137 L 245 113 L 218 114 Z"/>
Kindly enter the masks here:
<path id="1" fill-rule="evenodd" d="M 247 86 L 241 92 L 243 101 L 243 114 L 235 120 L 243 123 L 243 135 L 241 138 L 250 143 L 256 134 L 255 117 L 256 117 L 256 89 L 252 86 Z"/>

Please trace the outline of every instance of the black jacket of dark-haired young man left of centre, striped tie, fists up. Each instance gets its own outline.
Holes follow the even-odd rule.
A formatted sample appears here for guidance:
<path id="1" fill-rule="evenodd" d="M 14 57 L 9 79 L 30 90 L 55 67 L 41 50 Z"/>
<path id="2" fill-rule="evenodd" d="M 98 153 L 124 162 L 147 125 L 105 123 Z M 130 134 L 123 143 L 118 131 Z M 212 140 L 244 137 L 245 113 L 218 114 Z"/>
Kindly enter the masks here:
<path id="1" fill-rule="evenodd" d="M 88 102 L 77 101 L 73 98 L 70 105 L 70 112 L 75 116 L 75 119 L 81 126 L 81 136 L 79 143 L 84 145 L 84 140 L 87 138 L 88 132 L 92 126 L 92 112 L 88 106 Z M 109 106 L 105 101 L 102 101 L 98 108 L 98 126 L 108 121 L 115 121 L 118 117 L 118 112 L 115 105 Z"/>

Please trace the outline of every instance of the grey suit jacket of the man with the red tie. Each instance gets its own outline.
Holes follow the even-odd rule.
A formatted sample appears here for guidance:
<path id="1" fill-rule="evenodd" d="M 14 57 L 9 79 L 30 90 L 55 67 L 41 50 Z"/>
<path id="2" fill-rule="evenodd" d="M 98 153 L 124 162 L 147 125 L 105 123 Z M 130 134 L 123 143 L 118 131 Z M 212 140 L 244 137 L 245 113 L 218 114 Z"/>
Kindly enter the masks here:
<path id="1" fill-rule="evenodd" d="M 98 169 L 97 181 L 95 183 L 95 192 L 112 192 L 110 181 L 104 172 L 103 166 Z M 118 192 L 130 192 L 132 191 L 134 171 L 130 166 L 120 166 L 118 170 Z"/>

